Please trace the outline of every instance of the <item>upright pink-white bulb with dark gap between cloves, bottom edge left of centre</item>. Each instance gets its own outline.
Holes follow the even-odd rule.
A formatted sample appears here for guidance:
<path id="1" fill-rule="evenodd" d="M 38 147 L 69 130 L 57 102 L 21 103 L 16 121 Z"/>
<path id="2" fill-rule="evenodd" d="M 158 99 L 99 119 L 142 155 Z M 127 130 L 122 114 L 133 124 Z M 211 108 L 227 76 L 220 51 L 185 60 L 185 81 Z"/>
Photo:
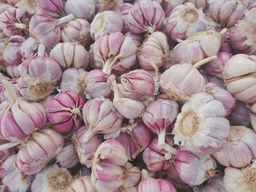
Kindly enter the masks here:
<path id="1" fill-rule="evenodd" d="M 124 183 L 128 157 L 123 145 L 110 139 L 102 142 L 94 154 L 91 183 L 99 192 L 114 192 Z"/>

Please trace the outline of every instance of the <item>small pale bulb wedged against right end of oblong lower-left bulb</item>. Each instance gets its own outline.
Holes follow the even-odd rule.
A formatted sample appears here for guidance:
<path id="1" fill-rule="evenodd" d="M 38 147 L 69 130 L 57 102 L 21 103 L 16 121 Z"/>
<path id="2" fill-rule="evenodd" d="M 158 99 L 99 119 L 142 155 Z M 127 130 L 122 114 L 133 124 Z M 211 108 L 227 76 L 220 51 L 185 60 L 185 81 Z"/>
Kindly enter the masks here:
<path id="1" fill-rule="evenodd" d="M 66 168 L 71 168 L 79 163 L 79 158 L 72 142 L 65 143 L 62 150 L 56 155 L 56 163 Z"/>

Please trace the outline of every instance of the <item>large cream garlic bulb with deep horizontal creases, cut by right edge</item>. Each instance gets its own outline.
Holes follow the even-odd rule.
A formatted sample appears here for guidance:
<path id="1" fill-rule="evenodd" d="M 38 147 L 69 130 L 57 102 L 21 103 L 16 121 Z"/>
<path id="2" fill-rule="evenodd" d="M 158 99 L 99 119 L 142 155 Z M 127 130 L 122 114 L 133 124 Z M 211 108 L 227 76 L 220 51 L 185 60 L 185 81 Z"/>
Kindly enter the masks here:
<path id="1" fill-rule="evenodd" d="M 253 104 L 256 102 L 256 57 L 238 54 L 227 61 L 223 77 L 227 91 L 239 101 Z"/>

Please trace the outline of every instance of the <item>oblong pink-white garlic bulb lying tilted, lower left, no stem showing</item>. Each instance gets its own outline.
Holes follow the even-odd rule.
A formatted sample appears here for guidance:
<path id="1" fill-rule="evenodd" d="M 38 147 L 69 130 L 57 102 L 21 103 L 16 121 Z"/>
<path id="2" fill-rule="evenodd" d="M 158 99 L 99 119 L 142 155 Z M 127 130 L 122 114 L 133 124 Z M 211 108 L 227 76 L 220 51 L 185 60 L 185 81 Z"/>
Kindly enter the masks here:
<path id="1" fill-rule="evenodd" d="M 25 174 L 37 174 L 61 151 L 63 146 L 63 137 L 53 129 L 35 131 L 18 151 L 18 169 Z"/>

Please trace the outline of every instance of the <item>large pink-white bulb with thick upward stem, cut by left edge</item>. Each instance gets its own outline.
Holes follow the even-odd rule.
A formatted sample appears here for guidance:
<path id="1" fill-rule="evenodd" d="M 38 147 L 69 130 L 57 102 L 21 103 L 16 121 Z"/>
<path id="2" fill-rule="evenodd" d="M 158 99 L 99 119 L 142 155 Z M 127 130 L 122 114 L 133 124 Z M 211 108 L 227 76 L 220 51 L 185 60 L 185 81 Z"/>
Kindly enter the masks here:
<path id="1" fill-rule="evenodd" d="M 47 117 L 45 107 L 38 103 L 23 100 L 17 95 L 12 82 L 2 80 L 8 93 L 8 100 L 0 104 L 1 138 L 10 142 L 18 142 L 42 128 Z"/>

